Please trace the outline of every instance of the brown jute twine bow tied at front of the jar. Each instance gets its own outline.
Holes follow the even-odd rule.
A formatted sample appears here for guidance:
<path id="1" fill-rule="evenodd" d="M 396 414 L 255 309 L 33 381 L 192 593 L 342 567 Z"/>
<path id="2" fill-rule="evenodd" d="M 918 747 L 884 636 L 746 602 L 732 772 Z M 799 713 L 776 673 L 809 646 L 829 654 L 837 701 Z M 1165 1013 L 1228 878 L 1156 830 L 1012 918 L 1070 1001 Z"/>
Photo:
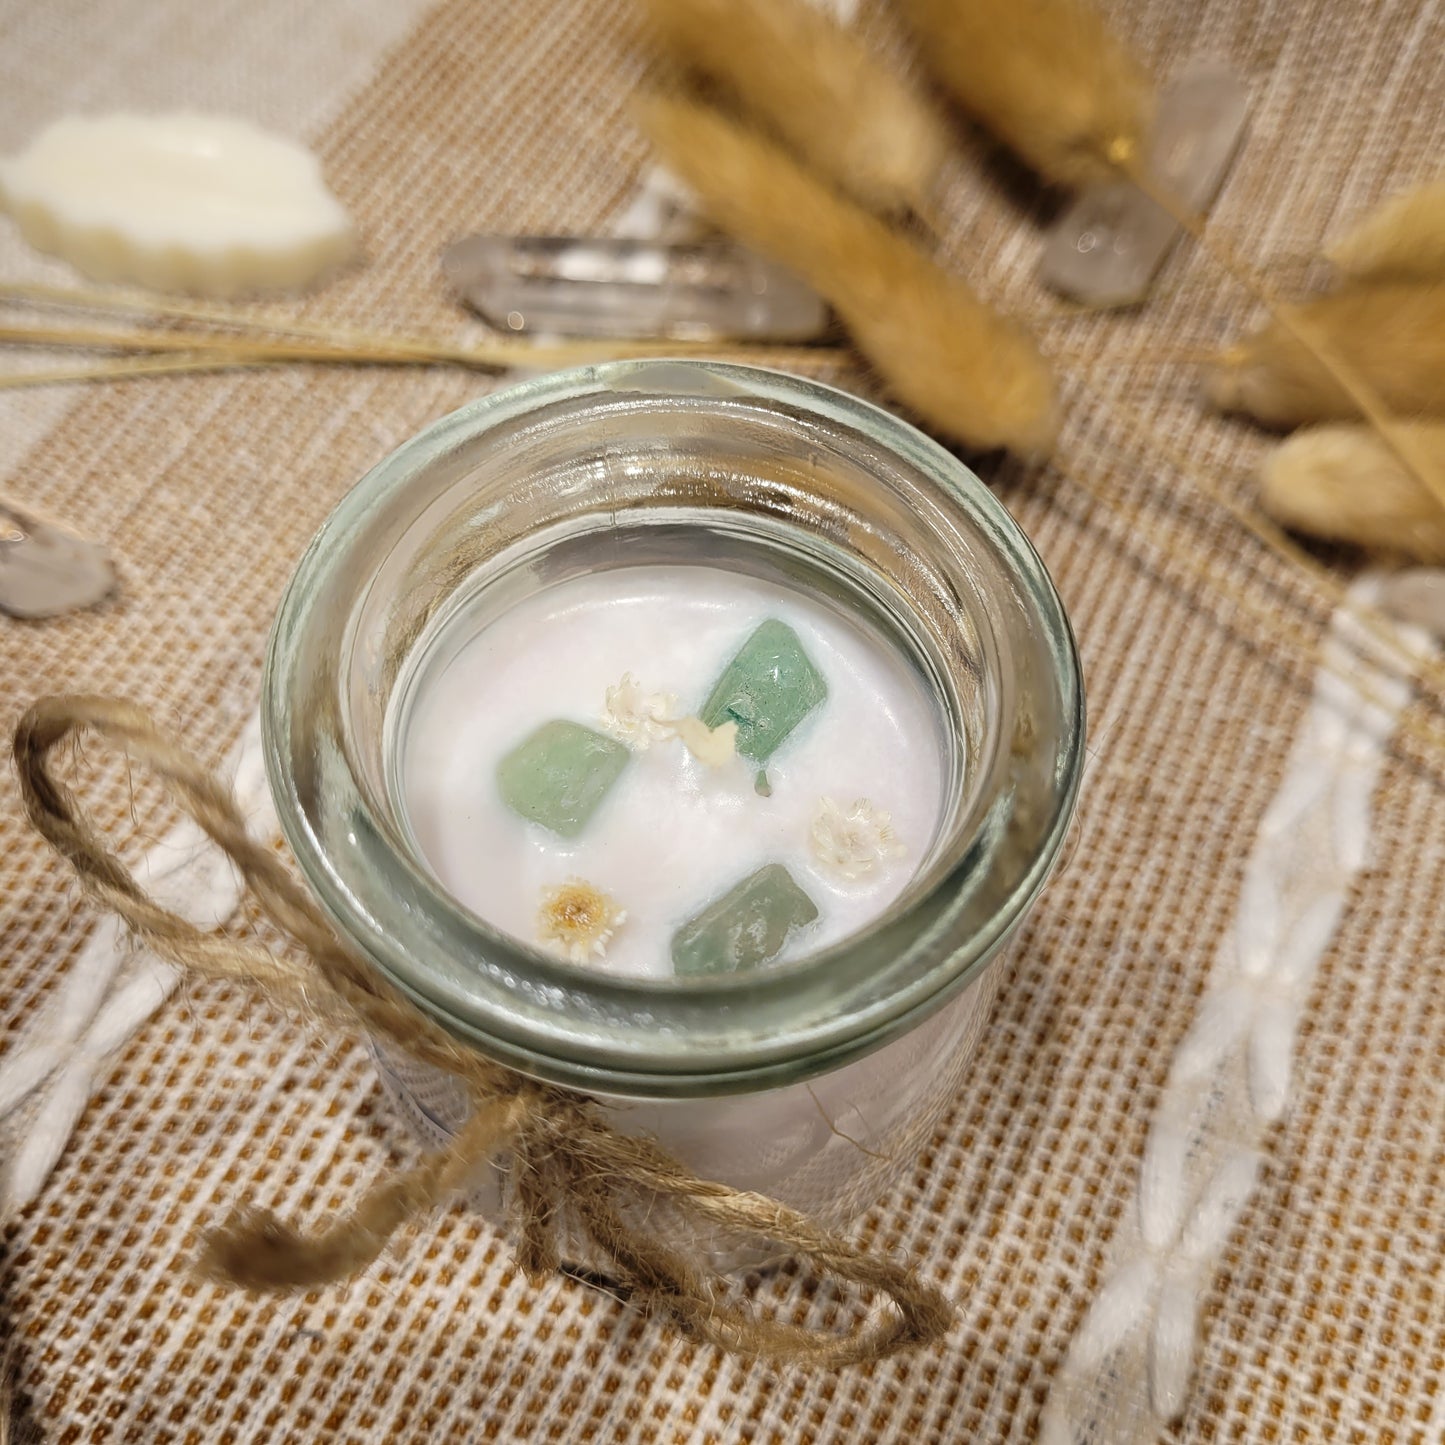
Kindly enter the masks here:
<path id="1" fill-rule="evenodd" d="M 51 772 L 51 753 L 85 728 L 165 780 L 236 863 L 266 916 L 298 945 L 298 958 L 202 932 L 144 893 Z M 238 1209 L 205 1241 L 201 1267 L 210 1277 L 260 1290 L 350 1279 L 402 1224 L 457 1195 L 487 1159 L 506 1152 L 510 1222 L 519 1261 L 533 1280 L 561 1266 L 559 1228 L 571 1218 L 633 1302 L 733 1355 L 837 1367 L 883 1360 L 946 1332 L 952 1306 L 912 1270 L 783 1204 L 699 1179 L 656 1143 L 616 1131 L 592 1100 L 529 1079 L 452 1039 L 342 946 L 305 889 L 249 835 L 230 789 L 140 708 L 105 696 L 45 698 L 16 728 L 14 760 L 30 822 L 75 868 L 87 893 L 159 957 L 191 975 L 249 984 L 303 1017 L 396 1045 L 468 1090 L 473 1114 L 445 1149 L 381 1178 L 348 1214 L 315 1233 L 302 1234 L 264 1211 Z M 727 1298 L 727 1282 L 673 1248 L 660 1230 L 629 1222 L 646 1218 L 656 1202 L 672 1205 L 701 1238 L 773 1241 L 818 1274 L 876 1296 L 876 1305 L 837 1334 L 764 1318 Z"/>

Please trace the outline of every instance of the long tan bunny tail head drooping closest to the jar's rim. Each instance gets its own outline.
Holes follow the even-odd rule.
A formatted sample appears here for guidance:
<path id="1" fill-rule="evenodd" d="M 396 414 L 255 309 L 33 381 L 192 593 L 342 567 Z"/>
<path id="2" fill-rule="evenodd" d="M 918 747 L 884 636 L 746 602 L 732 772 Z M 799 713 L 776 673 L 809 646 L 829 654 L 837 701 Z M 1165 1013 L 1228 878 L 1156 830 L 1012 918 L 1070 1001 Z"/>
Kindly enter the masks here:
<path id="1" fill-rule="evenodd" d="M 639 116 L 711 218 L 825 296 L 931 428 L 981 449 L 1052 448 L 1053 376 L 1017 322 L 763 137 L 686 101 L 652 98 Z"/>

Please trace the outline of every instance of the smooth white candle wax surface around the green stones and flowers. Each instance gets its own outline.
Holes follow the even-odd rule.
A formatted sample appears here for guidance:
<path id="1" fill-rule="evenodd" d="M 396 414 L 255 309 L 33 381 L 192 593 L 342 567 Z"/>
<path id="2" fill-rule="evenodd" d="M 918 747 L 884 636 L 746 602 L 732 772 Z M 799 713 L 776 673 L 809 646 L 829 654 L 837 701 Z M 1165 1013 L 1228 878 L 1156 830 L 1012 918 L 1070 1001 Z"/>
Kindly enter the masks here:
<path id="1" fill-rule="evenodd" d="M 630 673 L 696 712 L 767 618 L 793 629 L 827 699 L 766 764 L 709 769 L 675 738 L 633 751 L 575 838 L 514 814 L 497 763 L 543 722 L 603 731 L 607 689 Z M 465 614 L 452 626 L 465 626 Z M 452 649 L 439 649 L 442 655 Z M 857 932 L 907 884 L 938 825 L 939 725 L 922 679 L 883 640 L 779 584 L 692 565 L 578 577 L 519 603 L 423 670 L 403 720 L 399 782 L 413 841 L 462 905 L 523 942 L 539 939 L 543 894 L 572 879 L 601 889 L 626 920 L 592 967 L 666 977 L 672 936 L 757 868 L 780 863 L 818 909 L 779 958 Z M 858 877 L 818 855 L 822 798 L 889 815 L 896 853 Z M 552 951 L 556 951 L 555 946 Z"/>

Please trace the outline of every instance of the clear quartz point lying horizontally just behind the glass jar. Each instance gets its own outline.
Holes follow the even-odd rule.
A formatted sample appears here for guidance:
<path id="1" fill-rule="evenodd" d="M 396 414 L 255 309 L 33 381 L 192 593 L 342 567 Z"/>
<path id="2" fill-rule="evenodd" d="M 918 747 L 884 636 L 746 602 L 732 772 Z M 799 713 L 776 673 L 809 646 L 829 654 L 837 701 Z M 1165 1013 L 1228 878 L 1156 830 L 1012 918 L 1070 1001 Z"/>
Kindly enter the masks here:
<path id="1" fill-rule="evenodd" d="M 499 331 L 812 341 L 829 321 L 790 272 L 727 240 L 468 236 L 442 269 Z"/>

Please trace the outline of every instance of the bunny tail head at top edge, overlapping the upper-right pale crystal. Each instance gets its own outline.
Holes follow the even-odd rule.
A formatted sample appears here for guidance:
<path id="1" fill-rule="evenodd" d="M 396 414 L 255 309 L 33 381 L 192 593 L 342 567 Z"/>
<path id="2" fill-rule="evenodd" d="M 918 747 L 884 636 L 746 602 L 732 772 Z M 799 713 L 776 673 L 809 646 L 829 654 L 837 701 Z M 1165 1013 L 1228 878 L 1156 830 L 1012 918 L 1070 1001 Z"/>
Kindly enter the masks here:
<path id="1" fill-rule="evenodd" d="M 1153 110 L 1143 65 L 1084 0 L 900 0 L 954 98 L 1046 179 L 1114 178 Z"/>

